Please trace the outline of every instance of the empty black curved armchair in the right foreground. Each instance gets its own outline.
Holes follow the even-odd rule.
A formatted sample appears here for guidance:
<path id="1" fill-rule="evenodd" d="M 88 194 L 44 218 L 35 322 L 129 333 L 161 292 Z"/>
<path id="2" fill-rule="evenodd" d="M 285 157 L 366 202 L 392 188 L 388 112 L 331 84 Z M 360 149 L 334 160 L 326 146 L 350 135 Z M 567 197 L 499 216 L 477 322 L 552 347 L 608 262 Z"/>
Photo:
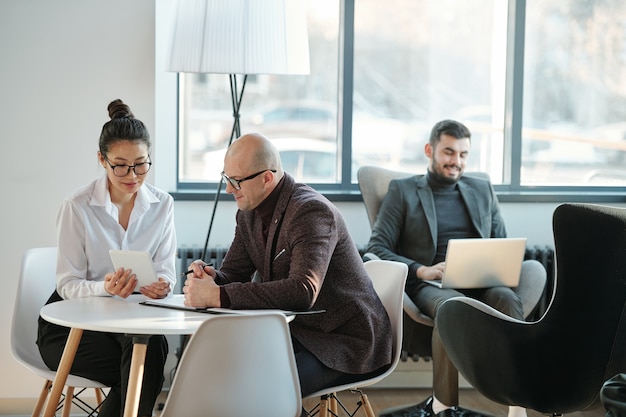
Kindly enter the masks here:
<path id="1" fill-rule="evenodd" d="M 626 209 L 563 204 L 554 212 L 556 279 L 535 322 L 458 297 L 438 310 L 457 369 L 485 397 L 544 414 L 599 406 L 626 371 Z"/>

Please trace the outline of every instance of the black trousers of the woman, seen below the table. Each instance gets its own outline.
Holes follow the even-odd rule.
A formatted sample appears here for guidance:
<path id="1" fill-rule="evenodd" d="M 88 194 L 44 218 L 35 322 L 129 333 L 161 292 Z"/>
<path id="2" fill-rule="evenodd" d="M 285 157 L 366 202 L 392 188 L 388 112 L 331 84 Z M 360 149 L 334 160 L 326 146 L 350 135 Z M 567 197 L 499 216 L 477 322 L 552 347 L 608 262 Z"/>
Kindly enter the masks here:
<path id="1" fill-rule="evenodd" d="M 39 319 L 37 345 L 45 364 L 57 370 L 69 328 Z M 126 402 L 128 375 L 132 359 L 132 338 L 118 333 L 84 331 L 72 364 L 71 373 L 101 382 L 111 389 L 100 409 L 100 417 L 121 417 Z M 138 416 L 151 416 L 163 388 L 163 371 L 168 344 L 165 336 L 148 340 Z"/>

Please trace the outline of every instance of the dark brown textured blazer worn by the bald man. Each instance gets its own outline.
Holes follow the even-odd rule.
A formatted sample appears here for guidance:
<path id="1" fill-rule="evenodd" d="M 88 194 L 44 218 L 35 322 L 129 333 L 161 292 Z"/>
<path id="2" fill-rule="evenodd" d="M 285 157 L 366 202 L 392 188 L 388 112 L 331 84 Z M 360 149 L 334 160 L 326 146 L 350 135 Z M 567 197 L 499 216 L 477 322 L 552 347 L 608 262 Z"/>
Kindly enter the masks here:
<path id="1" fill-rule="evenodd" d="M 255 272 L 259 282 L 251 282 Z M 328 367 L 361 374 L 391 362 L 389 317 L 341 213 L 288 174 L 267 245 L 257 213 L 239 210 L 217 274 L 232 308 L 326 310 L 297 316 L 290 329 Z"/>

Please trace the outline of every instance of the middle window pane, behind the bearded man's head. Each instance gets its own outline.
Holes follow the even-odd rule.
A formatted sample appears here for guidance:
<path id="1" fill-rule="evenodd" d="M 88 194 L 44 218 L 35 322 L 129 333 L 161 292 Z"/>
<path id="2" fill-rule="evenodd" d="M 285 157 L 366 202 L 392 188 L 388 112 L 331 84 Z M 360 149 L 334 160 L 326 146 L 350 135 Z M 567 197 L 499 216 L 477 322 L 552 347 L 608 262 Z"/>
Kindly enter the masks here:
<path id="1" fill-rule="evenodd" d="M 500 183 L 506 3 L 359 0 L 354 20 L 358 163 L 425 172 L 430 129 L 452 118 L 473 132 L 467 169 Z"/>

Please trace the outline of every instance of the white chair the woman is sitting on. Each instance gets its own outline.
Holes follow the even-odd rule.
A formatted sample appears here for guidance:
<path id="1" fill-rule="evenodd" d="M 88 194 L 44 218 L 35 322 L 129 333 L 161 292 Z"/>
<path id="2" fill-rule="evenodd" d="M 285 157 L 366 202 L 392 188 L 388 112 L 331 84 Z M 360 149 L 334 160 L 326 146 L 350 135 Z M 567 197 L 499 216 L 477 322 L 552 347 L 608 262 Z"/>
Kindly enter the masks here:
<path id="1" fill-rule="evenodd" d="M 33 417 L 41 415 L 48 393 L 52 388 L 55 371 L 48 369 L 41 359 L 35 340 L 37 339 L 37 319 L 39 310 L 55 288 L 57 248 L 28 249 L 22 256 L 20 279 L 17 284 L 17 296 L 11 324 L 11 351 L 13 357 L 26 368 L 45 379 L 39 400 L 33 410 Z M 66 382 L 64 401 L 57 410 L 63 408 L 63 417 L 70 415 L 72 403 L 89 415 L 97 415 L 97 410 L 81 400 L 79 395 L 87 388 L 96 390 L 96 401 L 102 403 L 103 388 L 97 381 L 69 375 Z M 75 388 L 80 388 L 75 392 Z M 97 406 L 96 406 L 97 408 Z"/>

